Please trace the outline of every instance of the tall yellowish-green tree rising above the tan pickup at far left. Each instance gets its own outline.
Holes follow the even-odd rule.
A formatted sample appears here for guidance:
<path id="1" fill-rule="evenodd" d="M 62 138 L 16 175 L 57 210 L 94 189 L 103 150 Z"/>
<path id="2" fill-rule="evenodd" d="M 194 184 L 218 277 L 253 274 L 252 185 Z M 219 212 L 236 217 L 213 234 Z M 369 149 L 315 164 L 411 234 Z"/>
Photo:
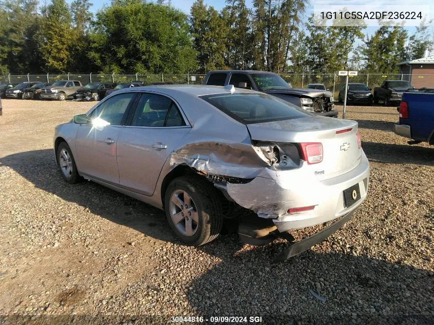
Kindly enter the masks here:
<path id="1" fill-rule="evenodd" d="M 52 0 L 42 18 L 41 53 L 47 71 L 66 72 L 71 60 L 71 14 L 65 0 Z"/>

